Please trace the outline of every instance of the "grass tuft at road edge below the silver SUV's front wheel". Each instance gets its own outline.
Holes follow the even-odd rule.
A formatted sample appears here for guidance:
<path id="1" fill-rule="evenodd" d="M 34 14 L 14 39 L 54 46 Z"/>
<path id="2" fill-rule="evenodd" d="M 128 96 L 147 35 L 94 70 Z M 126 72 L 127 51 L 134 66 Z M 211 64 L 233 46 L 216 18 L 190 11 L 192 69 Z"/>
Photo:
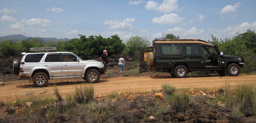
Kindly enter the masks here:
<path id="1" fill-rule="evenodd" d="M 76 103 L 88 103 L 94 99 L 94 87 L 92 84 L 83 84 L 75 87 L 74 101 Z"/>

